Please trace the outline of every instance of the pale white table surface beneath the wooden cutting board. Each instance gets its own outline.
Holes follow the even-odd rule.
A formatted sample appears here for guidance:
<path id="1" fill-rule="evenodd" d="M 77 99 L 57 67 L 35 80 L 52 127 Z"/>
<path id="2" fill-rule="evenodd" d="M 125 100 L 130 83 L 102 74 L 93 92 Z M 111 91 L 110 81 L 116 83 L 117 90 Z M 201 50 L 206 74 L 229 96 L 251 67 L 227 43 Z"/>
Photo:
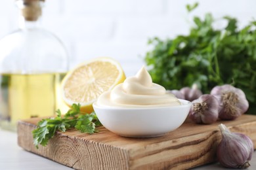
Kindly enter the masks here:
<path id="1" fill-rule="evenodd" d="M 253 154 L 250 164 L 251 167 L 248 169 L 256 169 L 256 151 Z M 71 168 L 23 150 L 17 144 L 16 133 L 0 129 L 0 169 L 66 170 Z M 211 163 L 194 169 L 224 169 L 224 167 L 219 165 L 219 163 Z"/>

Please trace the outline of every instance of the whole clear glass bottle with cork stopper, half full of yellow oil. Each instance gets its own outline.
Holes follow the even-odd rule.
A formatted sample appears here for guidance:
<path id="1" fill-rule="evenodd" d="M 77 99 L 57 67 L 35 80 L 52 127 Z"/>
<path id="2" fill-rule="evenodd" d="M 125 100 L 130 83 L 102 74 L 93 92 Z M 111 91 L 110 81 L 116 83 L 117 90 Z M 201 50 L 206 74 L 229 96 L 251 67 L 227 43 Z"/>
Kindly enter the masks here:
<path id="1" fill-rule="evenodd" d="M 11 130 L 18 120 L 68 110 L 60 96 L 68 55 L 62 42 L 41 27 L 45 0 L 15 2 L 19 29 L 0 39 L 0 127 Z"/>

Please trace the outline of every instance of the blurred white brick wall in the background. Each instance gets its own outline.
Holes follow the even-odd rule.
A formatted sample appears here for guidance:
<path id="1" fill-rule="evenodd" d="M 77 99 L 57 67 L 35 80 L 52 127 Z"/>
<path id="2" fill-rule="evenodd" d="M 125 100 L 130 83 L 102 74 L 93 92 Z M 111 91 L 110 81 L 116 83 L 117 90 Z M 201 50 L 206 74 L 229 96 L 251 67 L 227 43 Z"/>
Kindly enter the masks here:
<path id="1" fill-rule="evenodd" d="M 150 37 L 162 39 L 188 33 L 193 15 L 211 12 L 215 18 L 230 15 L 240 26 L 256 17 L 255 0 L 198 0 L 190 16 L 185 5 L 192 0 L 46 0 L 43 25 L 66 45 L 70 67 L 98 56 L 116 58 L 127 76 L 144 64 Z M 14 0 L 0 0 L 0 37 L 16 29 Z M 219 23 L 217 26 L 221 26 Z"/>

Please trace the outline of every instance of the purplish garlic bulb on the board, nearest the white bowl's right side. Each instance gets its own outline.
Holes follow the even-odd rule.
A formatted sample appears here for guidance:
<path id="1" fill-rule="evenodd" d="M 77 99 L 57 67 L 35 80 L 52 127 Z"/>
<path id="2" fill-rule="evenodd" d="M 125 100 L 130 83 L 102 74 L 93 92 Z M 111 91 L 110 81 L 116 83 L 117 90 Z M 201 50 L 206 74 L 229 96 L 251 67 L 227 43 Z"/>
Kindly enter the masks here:
<path id="1" fill-rule="evenodd" d="M 188 118 L 197 124 L 212 124 L 218 119 L 218 100 L 210 94 L 201 95 L 192 101 Z"/>

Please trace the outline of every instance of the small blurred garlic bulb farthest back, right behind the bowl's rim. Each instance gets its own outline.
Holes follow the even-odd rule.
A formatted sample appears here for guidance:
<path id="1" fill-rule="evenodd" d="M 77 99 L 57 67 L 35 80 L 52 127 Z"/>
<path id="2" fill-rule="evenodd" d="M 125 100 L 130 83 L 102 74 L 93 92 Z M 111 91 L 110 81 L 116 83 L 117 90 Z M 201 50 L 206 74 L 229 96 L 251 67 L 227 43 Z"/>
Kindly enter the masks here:
<path id="1" fill-rule="evenodd" d="M 198 99 L 198 97 L 203 94 L 201 90 L 198 89 L 198 86 L 196 84 L 193 84 L 192 88 L 181 88 L 180 92 L 184 94 L 185 99 L 188 101 Z"/>

